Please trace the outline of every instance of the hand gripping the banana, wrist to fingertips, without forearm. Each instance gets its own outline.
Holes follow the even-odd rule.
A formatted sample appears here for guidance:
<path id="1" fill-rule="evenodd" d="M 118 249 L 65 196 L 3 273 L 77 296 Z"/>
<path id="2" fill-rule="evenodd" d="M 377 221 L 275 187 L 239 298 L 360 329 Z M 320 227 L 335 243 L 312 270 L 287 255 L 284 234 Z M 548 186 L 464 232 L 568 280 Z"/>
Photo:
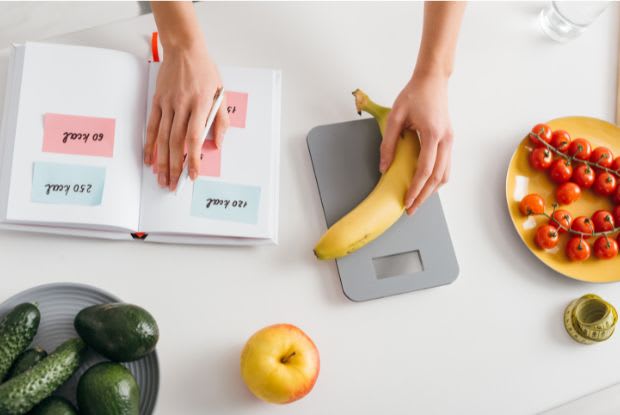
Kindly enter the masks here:
<path id="1" fill-rule="evenodd" d="M 417 131 L 421 144 L 418 167 L 405 196 L 405 208 L 412 215 L 450 177 L 452 127 L 447 76 L 414 74 L 398 95 L 381 143 L 382 173 L 394 159 L 403 130 Z"/>

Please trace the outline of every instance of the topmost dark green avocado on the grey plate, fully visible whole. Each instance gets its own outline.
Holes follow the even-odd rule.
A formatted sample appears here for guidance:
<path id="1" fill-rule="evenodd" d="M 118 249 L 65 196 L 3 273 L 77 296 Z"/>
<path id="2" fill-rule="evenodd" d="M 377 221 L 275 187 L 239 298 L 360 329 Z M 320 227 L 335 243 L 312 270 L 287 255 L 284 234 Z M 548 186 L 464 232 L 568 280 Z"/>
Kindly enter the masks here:
<path id="1" fill-rule="evenodd" d="M 140 359 L 155 349 L 159 328 L 145 309 L 124 303 L 87 307 L 75 316 L 75 330 L 95 351 L 115 362 Z"/>

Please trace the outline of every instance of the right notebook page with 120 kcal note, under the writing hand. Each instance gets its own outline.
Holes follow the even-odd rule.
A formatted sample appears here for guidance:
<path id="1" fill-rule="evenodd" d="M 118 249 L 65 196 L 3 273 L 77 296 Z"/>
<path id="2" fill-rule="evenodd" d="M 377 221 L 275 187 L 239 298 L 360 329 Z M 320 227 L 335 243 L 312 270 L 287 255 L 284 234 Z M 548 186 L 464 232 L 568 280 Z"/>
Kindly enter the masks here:
<path id="1" fill-rule="evenodd" d="M 158 63 L 151 64 L 150 111 Z M 274 238 L 280 100 L 280 72 L 222 67 L 231 125 L 222 148 L 203 147 L 200 177 L 175 194 L 161 189 L 153 169 L 144 167 L 140 230 L 183 235 Z M 277 123 L 280 122 L 279 116 Z"/>

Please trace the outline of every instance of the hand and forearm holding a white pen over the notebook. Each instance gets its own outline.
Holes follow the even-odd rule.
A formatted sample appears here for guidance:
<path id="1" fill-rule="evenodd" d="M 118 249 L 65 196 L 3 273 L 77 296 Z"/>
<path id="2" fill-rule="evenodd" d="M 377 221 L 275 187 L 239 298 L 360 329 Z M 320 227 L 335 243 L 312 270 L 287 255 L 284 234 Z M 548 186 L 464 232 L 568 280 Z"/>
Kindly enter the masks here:
<path id="1" fill-rule="evenodd" d="M 189 176 L 192 180 L 198 177 L 202 134 L 222 82 L 207 53 L 192 4 L 153 2 L 152 8 L 165 56 L 147 124 L 144 163 L 155 166 L 161 187 L 175 190 L 186 149 Z M 217 147 L 227 128 L 228 113 L 223 102 L 212 127 Z"/>

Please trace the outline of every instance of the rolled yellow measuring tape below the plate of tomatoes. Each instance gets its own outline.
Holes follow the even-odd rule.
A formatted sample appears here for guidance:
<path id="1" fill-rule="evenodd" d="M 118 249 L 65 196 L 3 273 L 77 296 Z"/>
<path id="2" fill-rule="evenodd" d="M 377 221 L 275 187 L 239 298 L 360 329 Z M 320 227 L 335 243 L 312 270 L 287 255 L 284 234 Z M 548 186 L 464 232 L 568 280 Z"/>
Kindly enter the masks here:
<path id="1" fill-rule="evenodd" d="M 614 334 L 618 313 L 613 305 L 595 294 L 572 301 L 564 311 L 564 327 L 579 343 L 592 344 Z"/>

